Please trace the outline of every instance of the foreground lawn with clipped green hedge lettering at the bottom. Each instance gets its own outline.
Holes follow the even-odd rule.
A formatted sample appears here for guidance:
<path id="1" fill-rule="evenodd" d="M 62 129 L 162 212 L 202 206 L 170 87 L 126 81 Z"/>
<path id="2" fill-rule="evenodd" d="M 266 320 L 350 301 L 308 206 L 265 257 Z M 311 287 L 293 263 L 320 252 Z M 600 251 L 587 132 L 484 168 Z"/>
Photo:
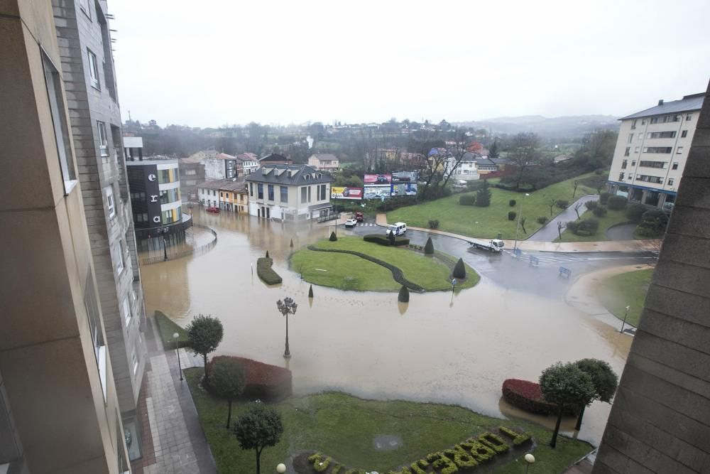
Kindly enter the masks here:
<path id="1" fill-rule="evenodd" d="M 253 450 L 242 451 L 236 438 L 224 427 L 226 402 L 215 399 L 198 386 L 202 370 L 185 370 L 185 377 L 197 406 L 200 424 L 207 436 L 219 473 L 250 473 L 256 464 Z M 235 402 L 233 419 L 244 410 L 244 402 Z M 532 433 L 537 442 L 535 473 L 561 473 L 564 468 L 591 451 L 589 444 L 560 436 L 557 448 L 546 445 L 550 431 L 523 420 L 503 420 L 477 414 L 461 406 L 416 402 L 378 402 L 328 392 L 293 397 L 277 405 L 283 417 L 284 433 L 273 448 L 261 454 L 263 473 L 285 462 L 297 451 L 321 451 L 339 463 L 386 473 L 398 465 L 410 464 L 427 453 L 448 448 L 469 436 L 507 426 Z M 402 438 L 400 448 L 376 451 L 373 438 L 379 435 Z M 522 457 L 522 453 L 519 457 Z M 496 473 L 520 473 L 523 461 L 518 458 L 501 465 Z"/>

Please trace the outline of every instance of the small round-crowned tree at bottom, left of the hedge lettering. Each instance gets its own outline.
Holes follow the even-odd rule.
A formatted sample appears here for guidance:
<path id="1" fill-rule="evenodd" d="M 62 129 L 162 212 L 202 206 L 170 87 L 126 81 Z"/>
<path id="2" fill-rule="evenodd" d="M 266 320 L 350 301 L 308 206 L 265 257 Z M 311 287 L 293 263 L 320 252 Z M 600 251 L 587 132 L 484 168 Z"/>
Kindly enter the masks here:
<path id="1" fill-rule="evenodd" d="M 250 404 L 234 424 L 234 436 L 239 441 L 239 447 L 256 451 L 256 474 L 261 474 L 261 451 L 275 446 L 281 434 L 281 414 L 263 402 Z"/>

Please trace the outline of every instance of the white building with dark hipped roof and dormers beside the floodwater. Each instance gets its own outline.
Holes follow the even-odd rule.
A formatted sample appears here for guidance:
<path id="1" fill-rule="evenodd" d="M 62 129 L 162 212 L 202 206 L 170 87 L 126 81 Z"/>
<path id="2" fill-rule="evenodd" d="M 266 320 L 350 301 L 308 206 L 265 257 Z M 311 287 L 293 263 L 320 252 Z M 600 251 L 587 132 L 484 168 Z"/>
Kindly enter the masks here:
<path id="1" fill-rule="evenodd" d="M 329 174 L 307 165 L 266 165 L 245 178 L 249 215 L 296 221 L 332 215 Z"/>

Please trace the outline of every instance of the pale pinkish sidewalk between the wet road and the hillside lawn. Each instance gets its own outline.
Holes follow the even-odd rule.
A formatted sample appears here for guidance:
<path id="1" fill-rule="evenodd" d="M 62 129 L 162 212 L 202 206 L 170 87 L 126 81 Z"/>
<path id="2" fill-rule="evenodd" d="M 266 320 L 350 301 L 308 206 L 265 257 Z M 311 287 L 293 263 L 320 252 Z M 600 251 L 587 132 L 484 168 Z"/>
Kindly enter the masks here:
<path id="1" fill-rule="evenodd" d="M 376 219 L 377 225 L 386 227 L 387 215 L 378 214 Z M 430 232 L 432 234 L 447 235 L 456 239 L 470 241 L 478 239 L 477 237 L 469 237 L 467 235 L 454 234 L 454 232 L 446 232 L 445 230 L 425 229 L 424 227 L 408 226 L 411 230 L 420 230 L 422 232 Z M 486 239 L 479 239 L 486 240 Z M 514 240 L 503 240 L 506 243 L 507 249 L 512 249 L 515 244 Z M 529 240 L 518 240 L 518 249 L 538 252 L 658 252 L 661 247 L 661 239 L 644 239 L 644 240 L 616 240 L 608 242 L 530 242 Z"/>

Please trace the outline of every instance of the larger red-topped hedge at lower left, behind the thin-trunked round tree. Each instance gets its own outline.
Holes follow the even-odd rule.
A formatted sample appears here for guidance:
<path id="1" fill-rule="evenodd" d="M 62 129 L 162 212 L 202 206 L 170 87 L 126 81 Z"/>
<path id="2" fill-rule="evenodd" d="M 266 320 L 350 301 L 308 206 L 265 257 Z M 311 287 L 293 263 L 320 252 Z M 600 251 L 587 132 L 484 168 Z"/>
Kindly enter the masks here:
<path id="1" fill-rule="evenodd" d="M 212 373 L 214 362 L 220 359 L 236 360 L 244 367 L 244 397 L 265 402 L 278 402 L 290 396 L 292 390 L 291 371 L 283 367 L 265 364 L 245 357 L 217 355 L 207 363 L 207 373 Z"/>

